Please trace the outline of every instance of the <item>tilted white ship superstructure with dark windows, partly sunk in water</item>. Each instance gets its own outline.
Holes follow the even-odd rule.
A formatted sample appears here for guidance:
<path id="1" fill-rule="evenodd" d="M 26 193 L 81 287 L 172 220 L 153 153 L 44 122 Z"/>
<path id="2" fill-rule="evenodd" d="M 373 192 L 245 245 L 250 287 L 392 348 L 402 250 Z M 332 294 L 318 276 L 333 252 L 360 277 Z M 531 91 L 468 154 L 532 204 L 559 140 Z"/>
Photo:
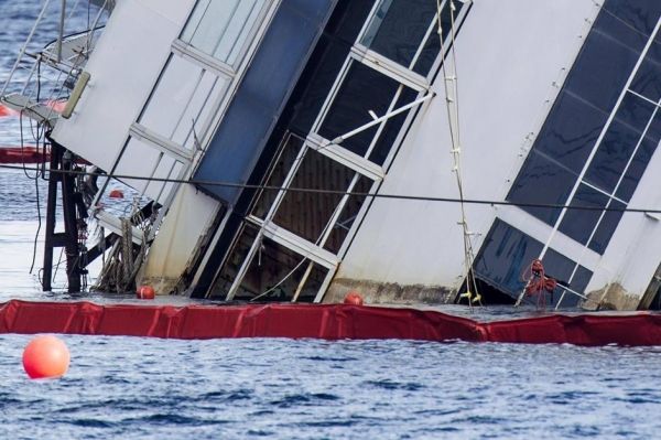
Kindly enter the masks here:
<path id="1" fill-rule="evenodd" d="M 658 1 L 109 9 L 48 125 L 95 167 L 96 254 L 130 282 L 513 303 L 540 259 L 555 307 L 657 302 Z M 116 181 L 140 195 L 128 215 L 104 207 Z"/>

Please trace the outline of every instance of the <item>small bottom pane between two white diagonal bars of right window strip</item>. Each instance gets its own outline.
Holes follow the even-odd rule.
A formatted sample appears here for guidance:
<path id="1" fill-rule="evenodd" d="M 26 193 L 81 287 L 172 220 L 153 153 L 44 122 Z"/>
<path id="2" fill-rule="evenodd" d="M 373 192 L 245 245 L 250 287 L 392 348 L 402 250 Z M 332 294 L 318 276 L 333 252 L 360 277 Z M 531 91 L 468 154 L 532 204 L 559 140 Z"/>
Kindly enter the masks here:
<path id="1" fill-rule="evenodd" d="M 607 203 L 608 196 L 581 184 L 570 206 L 604 208 Z M 600 210 L 567 210 L 560 232 L 586 245 L 600 216 Z"/>

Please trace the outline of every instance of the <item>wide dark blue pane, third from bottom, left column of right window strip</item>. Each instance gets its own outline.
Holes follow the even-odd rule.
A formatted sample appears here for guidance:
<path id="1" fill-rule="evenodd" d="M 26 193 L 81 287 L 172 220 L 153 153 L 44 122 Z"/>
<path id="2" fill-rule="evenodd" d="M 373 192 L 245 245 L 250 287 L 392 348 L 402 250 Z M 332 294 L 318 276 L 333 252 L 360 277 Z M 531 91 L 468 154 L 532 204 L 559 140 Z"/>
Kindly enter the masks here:
<path id="1" fill-rule="evenodd" d="M 618 18 L 599 13 L 566 79 L 566 89 L 610 112 L 646 42 Z"/>

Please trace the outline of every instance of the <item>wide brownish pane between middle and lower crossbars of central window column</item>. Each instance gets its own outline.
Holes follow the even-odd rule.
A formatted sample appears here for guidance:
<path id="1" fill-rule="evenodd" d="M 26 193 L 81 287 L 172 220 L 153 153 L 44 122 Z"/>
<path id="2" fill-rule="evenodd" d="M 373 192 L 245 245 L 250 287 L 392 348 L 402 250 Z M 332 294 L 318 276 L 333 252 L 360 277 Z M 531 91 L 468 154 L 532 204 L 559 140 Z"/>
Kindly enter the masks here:
<path id="1" fill-rule="evenodd" d="M 343 197 L 324 191 L 346 192 L 355 175 L 354 170 L 308 149 L 290 186 L 319 192 L 288 192 L 273 223 L 317 243 Z"/>

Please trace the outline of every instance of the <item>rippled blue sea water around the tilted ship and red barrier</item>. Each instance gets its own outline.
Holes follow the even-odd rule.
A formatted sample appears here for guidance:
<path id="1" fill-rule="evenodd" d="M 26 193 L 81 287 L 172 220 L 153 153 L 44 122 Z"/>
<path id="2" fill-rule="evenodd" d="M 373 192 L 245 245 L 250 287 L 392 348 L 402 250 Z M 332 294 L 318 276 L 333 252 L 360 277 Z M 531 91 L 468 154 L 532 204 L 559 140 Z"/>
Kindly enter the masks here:
<path id="1" fill-rule="evenodd" d="M 0 82 L 40 3 L 0 0 Z M 18 126 L 0 118 L 0 144 Z M 0 301 L 75 299 L 40 291 L 45 185 L 31 175 L 0 170 Z M 661 436 L 659 347 L 64 335 L 68 374 L 34 382 L 30 337 L 0 335 L 0 439 Z"/>

